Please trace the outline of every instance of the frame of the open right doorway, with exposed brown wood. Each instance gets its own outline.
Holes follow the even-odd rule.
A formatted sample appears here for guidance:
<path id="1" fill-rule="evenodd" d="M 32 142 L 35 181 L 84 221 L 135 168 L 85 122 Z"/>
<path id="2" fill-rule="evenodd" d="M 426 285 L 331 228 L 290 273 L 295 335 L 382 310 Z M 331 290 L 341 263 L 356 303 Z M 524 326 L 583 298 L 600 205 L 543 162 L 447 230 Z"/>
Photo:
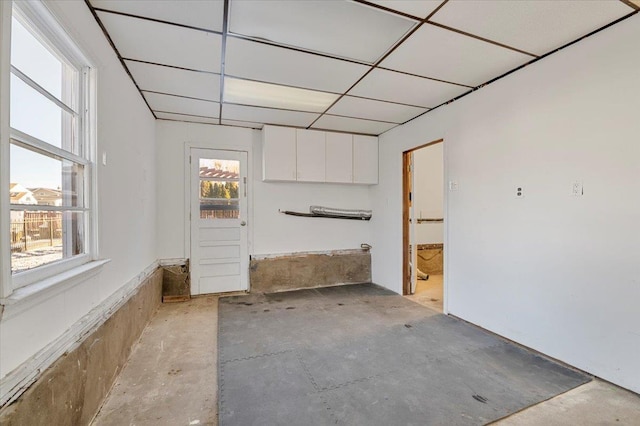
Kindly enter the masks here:
<path id="1" fill-rule="evenodd" d="M 409 218 L 410 218 L 410 214 L 411 214 L 411 207 L 410 207 L 410 194 L 411 194 L 411 185 L 412 185 L 412 174 L 414 173 L 413 170 L 410 170 L 410 164 L 411 164 L 411 156 L 413 155 L 414 151 L 417 151 L 419 149 L 422 148 L 426 148 L 428 146 L 431 145 L 435 145 L 438 143 L 443 143 L 443 151 L 444 151 L 444 158 L 443 158 L 443 170 L 444 170 L 444 177 L 443 180 L 446 183 L 447 182 L 447 162 L 446 162 L 446 144 L 444 144 L 444 139 L 438 139 L 435 141 L 431 141 L 428 142 L 426 144 L 423 145 L 419 145 L 416 146 L 414 148 L 411 148 L 409 150 L 406 150 L 402 153 L 402 295 L 403 296 L 407 296 L 409 294 L 411 294 L 411 278 L 414 274 L 411 273 L 411 267 L 410 267 L 410 262 L 411 262 L 411 255 L 409 254 L 409 243 L 410 243 L 410 235 L 411 235 L 411 225 L 415 226 L 415 224 L 409 224 Z M 446 185 L 445 185 L 446 186 Z M 443 188 L 444 190 L 444 188 Z M 447 229 L 449 228 L 448 225 L 448 220 L 447 220 L 447 205 L 448 205 L 448 197 L 447 197 L 448 191 L 444 190 L 444 199 L 443 199 L 443 217 L 444 217 L 444 254 L 445 254 L 445 265 L 444 265 L 444 282 L 443 282 L 443 286 L 444 286 L 444 291 L 443 291 L 443 311 L 444 313 L 447 313 L 447 295 L 446 295 L 446 289 L 447 289 L 447 265 L 446 265 L 446 252 L 447 252 L 447 234 L 448 231 Z M 417 265 L 416 265 L 417 268 Z"/>

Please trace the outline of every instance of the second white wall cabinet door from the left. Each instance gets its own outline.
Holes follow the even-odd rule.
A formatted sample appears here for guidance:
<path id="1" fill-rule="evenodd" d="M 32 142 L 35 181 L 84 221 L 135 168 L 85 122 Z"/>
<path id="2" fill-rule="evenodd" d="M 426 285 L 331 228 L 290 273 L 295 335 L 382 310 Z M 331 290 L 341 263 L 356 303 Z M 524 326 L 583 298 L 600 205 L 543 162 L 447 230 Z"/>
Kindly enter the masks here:
<path id="1" fill-rule="evenodd" d="M 296 130 L 297 180 L 324 182 L 325 132 Z"/>

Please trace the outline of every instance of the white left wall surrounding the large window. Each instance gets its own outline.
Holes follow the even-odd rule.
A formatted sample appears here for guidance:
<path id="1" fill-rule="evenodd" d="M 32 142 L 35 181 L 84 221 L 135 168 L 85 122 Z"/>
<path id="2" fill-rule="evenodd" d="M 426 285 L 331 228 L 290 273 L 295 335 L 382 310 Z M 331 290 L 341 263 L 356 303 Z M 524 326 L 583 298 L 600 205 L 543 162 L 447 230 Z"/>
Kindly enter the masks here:
<path id="1" fill-rule="evenodd" d="M 99 255 L 111 262 L 89 280 L 44 300 L 6 306 L 0 377 L 62 335 L 156 259 L 155 125 L 84 2 L 48 2 L 98 72 Z"/>

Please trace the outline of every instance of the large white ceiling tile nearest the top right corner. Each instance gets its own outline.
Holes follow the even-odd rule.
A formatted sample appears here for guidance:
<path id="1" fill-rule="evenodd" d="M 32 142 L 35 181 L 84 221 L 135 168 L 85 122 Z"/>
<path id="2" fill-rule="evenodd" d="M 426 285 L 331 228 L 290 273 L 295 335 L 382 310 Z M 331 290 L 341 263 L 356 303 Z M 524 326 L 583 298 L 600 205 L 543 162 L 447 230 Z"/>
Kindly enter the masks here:
<path id="1" fill-rule="evenodd" d="M 632 11 L 606 0 L 451 0 L 431 20 L 543 55 Z"/>

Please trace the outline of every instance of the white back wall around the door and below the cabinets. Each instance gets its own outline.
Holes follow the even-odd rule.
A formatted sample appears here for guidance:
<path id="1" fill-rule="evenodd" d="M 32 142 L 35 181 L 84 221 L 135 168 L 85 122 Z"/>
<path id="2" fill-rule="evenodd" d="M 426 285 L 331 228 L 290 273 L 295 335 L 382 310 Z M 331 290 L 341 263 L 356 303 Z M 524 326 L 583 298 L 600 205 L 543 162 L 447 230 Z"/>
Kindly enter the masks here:
<path id="1" fill-rule="evenodd" d="M 369 187 L 360 185 L 262 182 L 261 132 L 209 124 L 157 122 L 158 257 L 184 258 L 185 143 L 212 149 L 249 152 L 252 255 L 359 248 L 371 242 L 366 221 L 286 216 L 280 210 L 309 211 L 318 204 L 369 209 Z"/>

